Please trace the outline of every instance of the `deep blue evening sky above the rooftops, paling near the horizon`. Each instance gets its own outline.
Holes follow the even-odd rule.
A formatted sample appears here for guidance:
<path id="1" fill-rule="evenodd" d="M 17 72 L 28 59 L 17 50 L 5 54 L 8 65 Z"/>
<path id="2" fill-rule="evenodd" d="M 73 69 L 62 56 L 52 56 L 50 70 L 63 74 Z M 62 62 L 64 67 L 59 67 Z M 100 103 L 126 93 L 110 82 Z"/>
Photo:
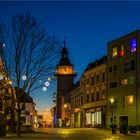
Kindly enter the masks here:
<path id="1" fill-rule="evenodd" d="M 78 78 L 89 62 L 106 55 L 107 42 L 140 29 L 139 1 L 22 1 L 0 2 L 0 16 L 22 13 L 29 8 L 50 34 L 67 40 L 69 57 Z M 38 110 L 50 108 L 52 93 L 37 90 L 32 94 Z"/>

